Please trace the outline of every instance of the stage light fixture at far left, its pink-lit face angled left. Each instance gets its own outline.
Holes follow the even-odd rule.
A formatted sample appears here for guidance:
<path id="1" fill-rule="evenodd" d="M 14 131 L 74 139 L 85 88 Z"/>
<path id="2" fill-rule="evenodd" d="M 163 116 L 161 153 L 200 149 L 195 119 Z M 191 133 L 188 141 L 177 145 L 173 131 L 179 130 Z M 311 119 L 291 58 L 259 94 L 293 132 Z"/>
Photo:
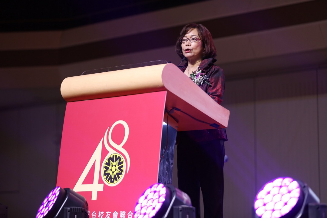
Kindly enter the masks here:
<path id="1" fill-rule="evenodd" d="M 89 218 L 86 199 L 77 192 L 59 186 L 43 200 L 36 218 Z"/>

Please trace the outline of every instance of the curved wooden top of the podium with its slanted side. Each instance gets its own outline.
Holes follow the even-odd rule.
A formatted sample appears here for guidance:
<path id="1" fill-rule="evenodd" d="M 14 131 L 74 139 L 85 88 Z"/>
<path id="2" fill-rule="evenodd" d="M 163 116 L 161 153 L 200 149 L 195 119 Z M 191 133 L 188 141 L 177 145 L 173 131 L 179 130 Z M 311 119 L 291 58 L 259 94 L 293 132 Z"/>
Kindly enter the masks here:
<path id="1" fill-rule="evenodd" d="M 167 110 L 181 110 L 171 114 L 178 120 L 175 124 L 178 131 L 228 126 L 229 110 L 217 104 L 172 63 L 73 76 L 61 83 L 61 95 L 67 102 L 158 91 L 167 91 Z"/>

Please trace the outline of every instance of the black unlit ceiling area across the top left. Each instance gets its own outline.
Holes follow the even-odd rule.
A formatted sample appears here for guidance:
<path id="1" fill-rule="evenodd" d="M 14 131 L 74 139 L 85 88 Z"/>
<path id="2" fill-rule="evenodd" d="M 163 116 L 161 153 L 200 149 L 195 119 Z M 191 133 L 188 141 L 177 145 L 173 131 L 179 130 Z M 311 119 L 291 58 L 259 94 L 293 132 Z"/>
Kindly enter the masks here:
<path id="1" fill-rule="evenodd" d="M 4 0 L 0 32 L 62 30 L 201 0 Z"/>

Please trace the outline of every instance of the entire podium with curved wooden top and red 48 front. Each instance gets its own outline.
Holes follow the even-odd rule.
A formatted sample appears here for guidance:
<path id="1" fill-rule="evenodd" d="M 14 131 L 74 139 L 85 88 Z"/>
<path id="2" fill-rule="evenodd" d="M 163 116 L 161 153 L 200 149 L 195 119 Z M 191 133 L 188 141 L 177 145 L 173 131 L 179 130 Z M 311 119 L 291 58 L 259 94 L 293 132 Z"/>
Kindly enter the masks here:
<path id="1" fill-rule="evenodd" d="M 132 217 L 148 186 L 169 183 L 176 131 L 228 125 L 229 110 L 171 63 L 68 77 L 61 94 L 57 185 L 83 195 L 90 217 Z"/>

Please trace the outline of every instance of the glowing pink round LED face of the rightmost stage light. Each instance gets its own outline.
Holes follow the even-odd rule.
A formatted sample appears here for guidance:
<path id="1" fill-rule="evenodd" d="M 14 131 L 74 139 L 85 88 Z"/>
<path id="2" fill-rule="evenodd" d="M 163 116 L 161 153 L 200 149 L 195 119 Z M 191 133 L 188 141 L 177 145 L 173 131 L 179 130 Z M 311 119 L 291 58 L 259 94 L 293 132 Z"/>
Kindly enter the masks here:
<path id="1" fill-rule="evenodd" d="M 293 209 L 301 193 L 297 181 L 289 177 L 276 178 L 258 192 L 254 200 L 255 213 L 261 218 L 279 218 Z"/>

